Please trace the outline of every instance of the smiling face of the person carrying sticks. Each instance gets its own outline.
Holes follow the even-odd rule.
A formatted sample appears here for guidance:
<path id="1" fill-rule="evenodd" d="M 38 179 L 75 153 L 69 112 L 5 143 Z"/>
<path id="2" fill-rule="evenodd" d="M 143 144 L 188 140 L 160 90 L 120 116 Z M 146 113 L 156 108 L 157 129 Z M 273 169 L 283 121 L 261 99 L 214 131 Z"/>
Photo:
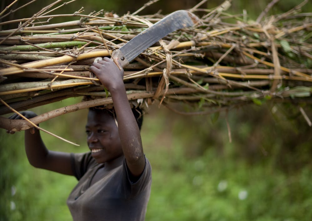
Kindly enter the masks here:
<path id="1" fill-rule="evenodd" d="M 97 163 L 110 162 L 123 155 L 115 119 L 105 111 L 89 110 L 87 143 Z"/>

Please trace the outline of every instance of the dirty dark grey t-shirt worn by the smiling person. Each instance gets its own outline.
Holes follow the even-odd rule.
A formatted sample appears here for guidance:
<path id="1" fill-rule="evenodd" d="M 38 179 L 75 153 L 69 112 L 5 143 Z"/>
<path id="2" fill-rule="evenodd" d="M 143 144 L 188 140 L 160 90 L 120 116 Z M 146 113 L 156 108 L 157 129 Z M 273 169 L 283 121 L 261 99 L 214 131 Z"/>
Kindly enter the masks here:
<path id="1" fill-rule="evenodd" d="M 79 180 L 67 199 L 74 221 L 144 220 L 151 190 L 151 165 L 132 183 L 126 161 L 90 186 L 95 172 L 103 167 L 91 153 L 72 153 L 72 168 Z"/>

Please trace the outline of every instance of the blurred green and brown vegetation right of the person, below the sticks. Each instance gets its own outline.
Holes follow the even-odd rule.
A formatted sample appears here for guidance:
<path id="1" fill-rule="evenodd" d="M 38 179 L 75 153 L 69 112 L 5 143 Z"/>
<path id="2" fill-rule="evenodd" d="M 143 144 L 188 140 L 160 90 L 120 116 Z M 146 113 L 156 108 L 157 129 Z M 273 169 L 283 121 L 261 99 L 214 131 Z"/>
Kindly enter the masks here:
<path id="1" fill-rule="evenodd" d="M 247 122 L 241 122 L 242 112 Z M 248 112 L 258 118 L 258 123 L 253 124 Z M 305 156 L 310 158 L 312 153 L 308 135 L 312 130 L 301 131 L 308 137 L 297 146 L 281 146 L 275 138 L 288 138 L 275 137 L 272 129 L 284 131 L 279 125 L 273 126 L 279 123 L 272 119 L 261 122 L 268 118 L 265 114 L 268 111 L 264 107 L 229 113 L 232 143 L 228 142 L 222 117 L 216 124 L 209 116 L 183 118 L 173 113 L 145 120 L 143 129 L 148 133 L 157 128 L 154 125 L 163 125 L 150 137 L 142 137 L 153 166 L 146 220 L 311 220 L 312 173 Z M 300 117 L 296 120 L 300 122 Z M 282 126 L 285 124 L 293 125 L 290 119 Z M 260 128 L 258 133 L 265 140 L 256 140 L 256 150 L 248 153 L 253 147 L 248 139 L 253 139 L 254 128 Z M 284 129 L 287 133 L 283 135 L 293 133 L 293 129 Z M 280 152 L 281 148 L 286 153 Z M 289 148 L 294 148 L 292 153 Z M 290 160 L 279 159 L 284 157 Z"/>

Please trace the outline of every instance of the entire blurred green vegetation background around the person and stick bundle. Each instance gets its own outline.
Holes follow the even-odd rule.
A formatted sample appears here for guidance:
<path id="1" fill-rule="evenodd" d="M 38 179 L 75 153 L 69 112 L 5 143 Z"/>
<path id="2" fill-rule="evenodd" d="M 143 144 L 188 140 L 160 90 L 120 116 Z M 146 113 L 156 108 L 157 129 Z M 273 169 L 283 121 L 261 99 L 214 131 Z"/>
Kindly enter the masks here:
<path id="1" fill-rule="evenodd" d="M 152 8 L 166 13 L 168 7 L 164 6 L 171 1 L 160 2 L 162 5 Z M 237 3 L 233 3 L 235 10 L 251 7 L 257 14 L 266 5 L 265 1 L 248 1 L 249 5 L 233 2 Z M 280 2 L 276 10 L 285 11 L 299 3 Z M 145 2 L 138 1 L 134 9 L 119 7 L 116 4 L 120 0 L 92 3 L 86 12 L 94 8 L 134 11 Z M 208 6 L 217 3 L 208 1 Z M 74 3 L 72 9 L 83 5 Z M 80 99 L 70 98 L 33 110 L 45 113 Z M 311 118 L 312 108 L 304 108 Z M 81 110 L 41 123 L 42 128 L 80 144 L 71 146 L 41 133 L 47 147 L 88 151 L 86 114 L 87 110 Z M 261 106 L 230 111 L 232 143 L 226 117 L 225 113 L 186 117 L 163 107 L 158 109 L 157 104 L 150 108 L 142 127 L 145 154 L 153 167 L 146 220 L 312 220 L 312 128 L 299 108 L 266 101 Z M 76 179 L 30 166 L 23 138 L 23 132 L 10 135 L 0 130 L 0 221 L 71 220 L 66 199 Z"/>

